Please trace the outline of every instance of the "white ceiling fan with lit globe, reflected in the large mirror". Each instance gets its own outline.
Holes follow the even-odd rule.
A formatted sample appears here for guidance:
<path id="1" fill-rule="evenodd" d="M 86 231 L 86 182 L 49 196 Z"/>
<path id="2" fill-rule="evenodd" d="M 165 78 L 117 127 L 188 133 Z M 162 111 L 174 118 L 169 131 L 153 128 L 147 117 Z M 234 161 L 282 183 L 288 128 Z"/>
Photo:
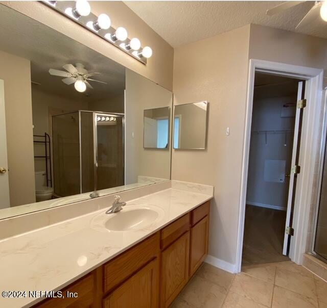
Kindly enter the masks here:
<path id="1" fill-rule="evenodd" d="M 66 70 L 58 70 L 58 69 L 49 69 L 49 73 L 53 76 L 61 76 L 65 77 L 62 79 L 62 82 L 66 85 L 74 84 L 76 91 L 84 92 L 86 87 L 89 89 L 93 89 L 93 87 L 89 84 L 88 81 L 99 82 L 102 84 L 107 85 L 107 83 L 95 79 L 91 79 L 91 76 L 100 73 L 89 73 L 85 68 L 84 65 L 81 63 L 76 63 L 75 66 L 73 64 L 65 64 L 63 68 Z"/>

